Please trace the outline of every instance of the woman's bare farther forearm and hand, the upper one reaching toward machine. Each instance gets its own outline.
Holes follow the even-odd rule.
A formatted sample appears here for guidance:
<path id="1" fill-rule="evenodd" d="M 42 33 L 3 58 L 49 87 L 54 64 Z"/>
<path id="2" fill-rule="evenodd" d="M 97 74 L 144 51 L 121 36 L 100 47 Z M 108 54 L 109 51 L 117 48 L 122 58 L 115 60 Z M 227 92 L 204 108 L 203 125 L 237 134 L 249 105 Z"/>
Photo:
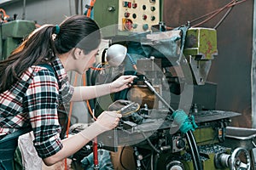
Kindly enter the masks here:
<path id="1" fill-rule="evenodd" d="M 75 87 L 71 101 L 94 99 L 106 94 L 119 92 L 125 88 L 130 88 L 134 78 L 135 76 L 121 76 L 108 84 Z"/>

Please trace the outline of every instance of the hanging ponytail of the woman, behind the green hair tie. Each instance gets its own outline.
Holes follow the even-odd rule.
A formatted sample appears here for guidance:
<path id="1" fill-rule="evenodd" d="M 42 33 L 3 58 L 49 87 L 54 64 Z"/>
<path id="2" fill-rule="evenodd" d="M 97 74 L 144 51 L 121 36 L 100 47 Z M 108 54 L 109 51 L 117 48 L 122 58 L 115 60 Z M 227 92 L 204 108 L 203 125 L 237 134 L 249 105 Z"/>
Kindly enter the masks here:
<path id="1" fill-rule="evenodd" d="M 22 73 L 30 66 L 55 59 L 53 31 L 54 26 L 38 28 L 10 54 L 8 59 L 0 61 L 0 93 L 19 81 Z"/>

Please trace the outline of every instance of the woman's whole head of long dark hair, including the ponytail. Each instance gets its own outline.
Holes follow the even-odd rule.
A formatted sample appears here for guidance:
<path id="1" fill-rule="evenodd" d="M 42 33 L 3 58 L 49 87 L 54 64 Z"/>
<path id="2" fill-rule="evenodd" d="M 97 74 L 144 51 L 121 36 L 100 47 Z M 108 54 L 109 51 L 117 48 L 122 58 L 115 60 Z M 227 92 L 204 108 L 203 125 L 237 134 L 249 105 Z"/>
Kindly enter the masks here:
<path id="1" fill-rule="evenodd" d="M 81 48 L 88 54 L 100 42 L 99 27 L 85 15 L 68 17 L 60 26 L 41 26 L 8 59 L 0 61 L 0 93 L 19 81 L 22 73 L 32 65 L 49 63 L 55 59 L 55 54 L 65 54 L 72 48 Z"/>

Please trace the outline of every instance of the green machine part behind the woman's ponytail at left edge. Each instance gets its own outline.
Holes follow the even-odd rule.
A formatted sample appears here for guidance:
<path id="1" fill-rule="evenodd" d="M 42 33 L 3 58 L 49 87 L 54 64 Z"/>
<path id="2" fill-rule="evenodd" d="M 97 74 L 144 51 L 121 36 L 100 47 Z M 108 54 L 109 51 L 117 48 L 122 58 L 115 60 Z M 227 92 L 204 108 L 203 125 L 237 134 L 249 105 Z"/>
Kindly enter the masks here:
<path id="1" fill-rule="evenodd" d="M 31 20 L 13 20 L 3 23 L 0 33 L 1 59 L 6 59 L 20 45 L 23 38 L 35 30 L 35 22 Z"/>

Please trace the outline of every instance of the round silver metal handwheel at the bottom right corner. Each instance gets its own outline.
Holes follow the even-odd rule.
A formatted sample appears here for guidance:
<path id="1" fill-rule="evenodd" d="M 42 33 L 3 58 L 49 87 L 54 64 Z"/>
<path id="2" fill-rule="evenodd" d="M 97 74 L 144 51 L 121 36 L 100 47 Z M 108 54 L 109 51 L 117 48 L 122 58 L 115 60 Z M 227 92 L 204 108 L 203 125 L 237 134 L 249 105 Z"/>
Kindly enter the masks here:
<path id="1" fill-rule="evenodd" d="M 230 156 L 230 170 L 250 170 L 251 158 L 249 152 L 244 148 L 236 148 Z"/>

